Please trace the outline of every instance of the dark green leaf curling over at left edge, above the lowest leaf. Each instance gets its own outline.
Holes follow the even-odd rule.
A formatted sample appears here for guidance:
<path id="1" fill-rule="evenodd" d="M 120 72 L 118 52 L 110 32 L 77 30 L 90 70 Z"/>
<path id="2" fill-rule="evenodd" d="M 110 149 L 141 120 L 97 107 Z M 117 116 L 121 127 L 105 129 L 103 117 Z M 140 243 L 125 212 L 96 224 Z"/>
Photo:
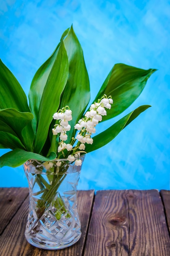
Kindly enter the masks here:
<path id="1" fill-rule="evenodd" d="M 0 110 L 1 131 L 5 131 L 5 128 L 7 128 L 6 132 L 13 134 L 15 137 L 18 137 L 25 148 L 28 149 L 31 148 L 34 139 L 32 127 L 27 126 L 29 123 L 31 125 L 32 119 L 33 114 L 30 112 L 19 112 L 14 108 L 6 108 Z M 24 128 L 26 128 L 26 130 Z"/>

